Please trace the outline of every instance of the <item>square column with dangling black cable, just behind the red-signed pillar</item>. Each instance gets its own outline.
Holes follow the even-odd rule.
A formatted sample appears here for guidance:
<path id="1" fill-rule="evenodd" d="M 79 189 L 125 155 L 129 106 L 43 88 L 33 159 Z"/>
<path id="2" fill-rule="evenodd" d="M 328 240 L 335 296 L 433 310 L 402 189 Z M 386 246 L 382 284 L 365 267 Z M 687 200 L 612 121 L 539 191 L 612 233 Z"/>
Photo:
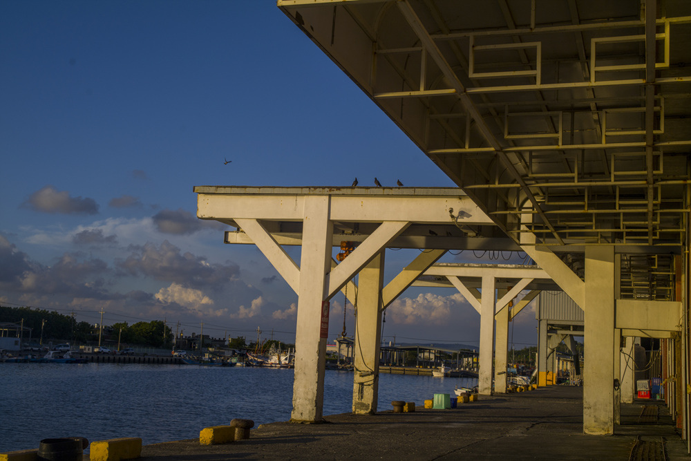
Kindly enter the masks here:
<path id="1" fill-rule="evenodd" d="M 363 267 L 358 281 L 352 412 L 357 415 L 374 415 L 377 413 L 379 391 L 383 251 Z"/>

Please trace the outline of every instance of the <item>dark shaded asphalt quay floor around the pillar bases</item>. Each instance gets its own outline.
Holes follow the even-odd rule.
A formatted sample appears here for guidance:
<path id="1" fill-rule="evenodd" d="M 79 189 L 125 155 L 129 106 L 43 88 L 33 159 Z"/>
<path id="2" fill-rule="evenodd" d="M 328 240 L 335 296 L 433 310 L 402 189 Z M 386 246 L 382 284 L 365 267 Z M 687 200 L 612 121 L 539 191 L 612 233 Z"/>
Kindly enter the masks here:
<path id="1" fill-rule="evenodd" d="M 687 460 L 667 407 L 623 404 L 614 435 L 583 434 L 583 388 L 480 396 L 448 410 L 330 415 L 323 424 L 278 422 L 251 438 L 204 446 L 197 439 L 142 447 L 142 460 Z M 242 417 L 242 415 L 232 415 Z M 200 428 L 200 430 L 203 428 Z"/>

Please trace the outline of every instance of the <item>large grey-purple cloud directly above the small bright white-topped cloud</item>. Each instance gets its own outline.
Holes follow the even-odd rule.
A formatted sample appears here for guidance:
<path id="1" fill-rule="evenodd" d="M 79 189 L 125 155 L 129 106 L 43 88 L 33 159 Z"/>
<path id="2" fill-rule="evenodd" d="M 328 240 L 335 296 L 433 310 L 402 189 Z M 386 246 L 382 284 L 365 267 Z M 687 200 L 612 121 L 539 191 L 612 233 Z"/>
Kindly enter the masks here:
<path id="1" fill-rule="evenodd" d="M 160 246 L 146 243 L 131 247 L 132 254 L 116 262 L 130 275 L 144 275 L 156 280 L 175 282 L 187 288 L 222 288 L 237 278 L 240 268 L 234 263 L 209 264 L 203 256 L 180 252 L 164 241 Z"/>

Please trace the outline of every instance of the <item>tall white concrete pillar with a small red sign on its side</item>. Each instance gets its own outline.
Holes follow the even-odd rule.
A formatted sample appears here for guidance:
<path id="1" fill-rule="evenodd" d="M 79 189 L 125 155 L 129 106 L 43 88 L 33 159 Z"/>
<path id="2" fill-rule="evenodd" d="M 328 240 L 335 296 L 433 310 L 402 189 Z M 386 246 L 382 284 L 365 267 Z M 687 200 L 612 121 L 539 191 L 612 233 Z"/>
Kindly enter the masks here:
<path id="1" fill-rule="evenodd" d="M 329 290 L 333 232 L 329 208 L 328 196 L 305 197 L 291 414 L 296 422 L 323 419 L 328 317 L 327 335 L 323 334 L 322 319 L 328 316 L 328 305 L 323 308 L 322 303 Z"/>

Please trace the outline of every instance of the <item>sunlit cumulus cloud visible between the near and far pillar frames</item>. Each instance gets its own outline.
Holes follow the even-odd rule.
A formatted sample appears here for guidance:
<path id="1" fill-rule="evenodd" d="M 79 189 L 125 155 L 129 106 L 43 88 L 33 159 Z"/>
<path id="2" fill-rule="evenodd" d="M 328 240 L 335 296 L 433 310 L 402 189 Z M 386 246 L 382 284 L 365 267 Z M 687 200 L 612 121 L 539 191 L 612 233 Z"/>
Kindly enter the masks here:
<path id="1" fill-rule="evenodd" d="M 417 298 L 397 299 L 386 310 L 387 320 L 405 325 L 444 325 L 451 317 L 451 308 L 464 302 L 460 293 L 439 296 L 434 293 L 421 293 Z"/>

